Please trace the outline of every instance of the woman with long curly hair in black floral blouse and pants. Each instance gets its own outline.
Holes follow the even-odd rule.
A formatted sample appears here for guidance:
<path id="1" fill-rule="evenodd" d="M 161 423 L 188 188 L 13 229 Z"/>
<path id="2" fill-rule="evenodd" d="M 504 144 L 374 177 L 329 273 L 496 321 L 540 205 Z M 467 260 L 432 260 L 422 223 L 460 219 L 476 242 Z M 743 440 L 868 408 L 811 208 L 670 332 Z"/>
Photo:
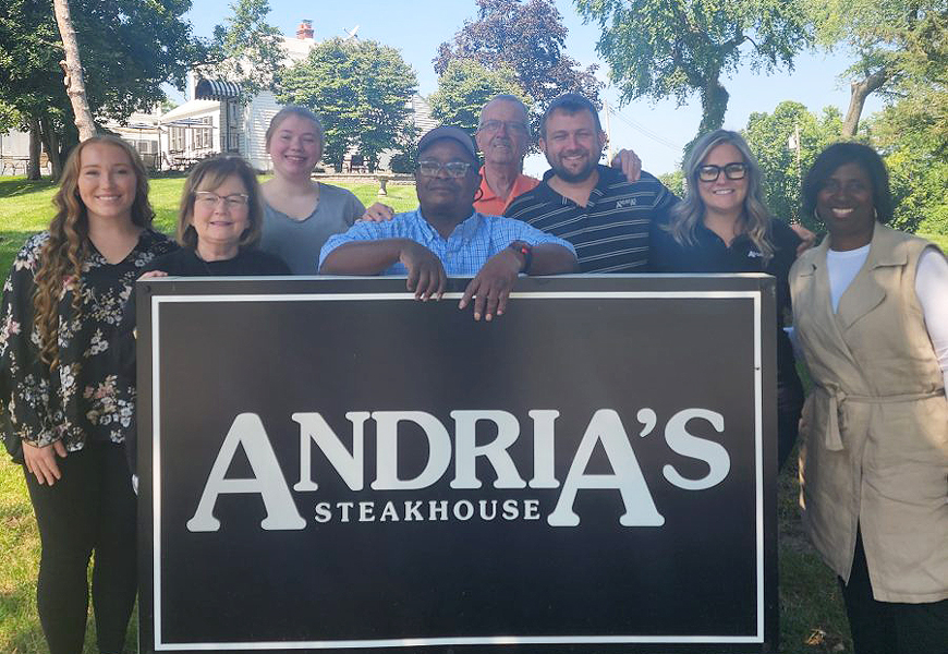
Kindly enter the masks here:
<path id="1" fill-rule="evenodd" d="M 135 496 L 123 451 L 132 407 L 110 339 L 143 266 L 175 245 L 151 229 L 145 168 L 120 138 L 78 145 L 53 204 L 49 230 L 26 242 L 3 287 L 0 410 L 39 525 L 50 653 L 82 652 L 94 552 L 98 646 L 119 653 L 137 586 Z"/>

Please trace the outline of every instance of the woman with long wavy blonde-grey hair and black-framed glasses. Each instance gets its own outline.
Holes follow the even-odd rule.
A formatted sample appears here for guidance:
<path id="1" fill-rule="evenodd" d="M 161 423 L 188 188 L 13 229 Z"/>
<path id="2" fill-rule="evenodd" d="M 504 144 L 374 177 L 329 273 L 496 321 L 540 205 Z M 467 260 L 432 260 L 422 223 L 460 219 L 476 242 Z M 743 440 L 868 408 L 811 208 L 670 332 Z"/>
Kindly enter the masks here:
<path id="1" fill-rule="evenodd" d="M 761 169 L 737 132 L 717 130 L 694 144 L 684 161 L 685 196 L 667 225 L 652 230 L 657 272 L 766 272 L 777 278 L 778 461 L 797 440 L 803 387 L 783 332 L 790 310 L 788 275 L 802 240 L 764 205 Z"/>

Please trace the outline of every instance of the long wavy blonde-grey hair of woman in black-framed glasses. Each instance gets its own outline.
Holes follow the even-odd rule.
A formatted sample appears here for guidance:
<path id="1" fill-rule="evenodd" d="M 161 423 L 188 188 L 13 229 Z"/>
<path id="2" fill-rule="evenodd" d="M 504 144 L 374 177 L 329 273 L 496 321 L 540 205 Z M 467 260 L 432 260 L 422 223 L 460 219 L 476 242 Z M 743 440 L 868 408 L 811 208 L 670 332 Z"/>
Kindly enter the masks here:
<path id="1" fill-rule="evenodd" d="M 748 142 L 737 132 L 715 130 L 700 137 L 689 152 L 682 165 L 685 181 L 684 199 L 671 209 L 671 220 L 665 229 L 681 245 L 694 244 L 694 230 L 704 219 L 705 206 L 697 191 L 698 171 L 705 157 L 721 143 L 733 145 L 741 153 L 748 166 L 748 195 L 744 198 L 742 231 L 746 233 L 763 255 L 764 265 L 774 256 L 774 245 L 769 241 L 771 214 L 764 204 L 761 189 L 761 167 L 751 153 Z"/>

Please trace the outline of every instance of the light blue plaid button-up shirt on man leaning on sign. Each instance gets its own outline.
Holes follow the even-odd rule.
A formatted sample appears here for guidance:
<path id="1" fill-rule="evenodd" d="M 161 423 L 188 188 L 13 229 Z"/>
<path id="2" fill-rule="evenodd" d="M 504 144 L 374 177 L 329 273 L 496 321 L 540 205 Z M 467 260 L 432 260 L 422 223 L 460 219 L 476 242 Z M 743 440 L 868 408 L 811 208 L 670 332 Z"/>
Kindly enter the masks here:
<path id="1" fill-rule="evenodd" d="M 522 220 L 483 216 L 477 211 L 461 222 L 448 239 L 428 225 L 422 209 L 397 214 L 391 220 L 382 222 L 356 222 L 349 231 L 329 237 L 319 253 L 319 265 L 329 253 L 345 243 L 356 241 L 378 241 L 380 239 L 411 239 L 421 243 L 441 259 L 445 272 L 449 276 L 474 276 L 488 258 L 509 246 L 513 241 L 531 245 L 556 243 L 573 254 L 573 246 L 562 239 L 544 233 Z M 397 262 L 382 270 L 382 275 L 408 275 L 408 269 Z"/>

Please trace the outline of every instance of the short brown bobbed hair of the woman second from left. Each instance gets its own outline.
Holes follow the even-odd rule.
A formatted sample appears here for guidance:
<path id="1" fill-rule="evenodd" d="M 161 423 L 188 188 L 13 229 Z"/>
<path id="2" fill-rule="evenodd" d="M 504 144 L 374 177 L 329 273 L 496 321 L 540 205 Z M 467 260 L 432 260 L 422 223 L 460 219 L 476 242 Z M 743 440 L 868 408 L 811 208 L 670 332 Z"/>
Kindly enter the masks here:
<path id="1" fill-rule="evenodd" d="M 184 191 L 181 194 L 181 209 L 178 211 L 178 242 L 192 250 L 197 247 L 197 231 L 191 223 L 194 216 L 194 192 L 202 185 L 206 191 L 214 191 L 223 181 L 235 175 L 243 182 L 247 190 L 247 221 L 250 226 L 241 234 L 239 245 L 241 250 L 253 247 L 260 240 L 260 228 L 264 222 L 264 206 L 260 201 L 260 185 L 257 183 L 257 173 L 251 165 L 239 155 L 219 155 L 204 159 L 195 166 L 191 174 L 184 181 Z"/>

